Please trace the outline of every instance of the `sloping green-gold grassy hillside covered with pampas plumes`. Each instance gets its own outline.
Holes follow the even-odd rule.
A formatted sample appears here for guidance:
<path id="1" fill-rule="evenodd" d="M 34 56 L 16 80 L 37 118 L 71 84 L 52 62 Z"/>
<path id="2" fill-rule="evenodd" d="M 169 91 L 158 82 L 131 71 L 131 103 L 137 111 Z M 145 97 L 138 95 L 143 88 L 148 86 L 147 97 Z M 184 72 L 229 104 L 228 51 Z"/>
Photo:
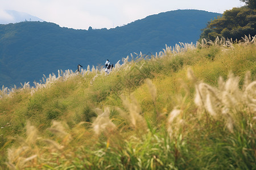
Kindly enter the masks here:
<path id="1" fill-rule="evenodd" d="M 255 169 L 255 42 L 181 43 L 2 89 L 1 168 Z"/>

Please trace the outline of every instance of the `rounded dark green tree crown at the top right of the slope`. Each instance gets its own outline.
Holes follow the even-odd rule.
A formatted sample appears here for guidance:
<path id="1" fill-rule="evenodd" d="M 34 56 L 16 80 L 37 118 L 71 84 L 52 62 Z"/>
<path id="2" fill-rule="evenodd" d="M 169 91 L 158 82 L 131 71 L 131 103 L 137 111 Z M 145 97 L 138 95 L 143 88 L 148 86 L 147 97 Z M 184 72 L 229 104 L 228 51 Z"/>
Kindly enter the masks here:
<path id="1" fill-rule="evenodd" d="M 256 35 L 256 10 L 247 6 L 226 10 L 222 17 L 208 23 L 201 39 L 214 41 L 216 37 L 240 40 L 245 35 Z"/>

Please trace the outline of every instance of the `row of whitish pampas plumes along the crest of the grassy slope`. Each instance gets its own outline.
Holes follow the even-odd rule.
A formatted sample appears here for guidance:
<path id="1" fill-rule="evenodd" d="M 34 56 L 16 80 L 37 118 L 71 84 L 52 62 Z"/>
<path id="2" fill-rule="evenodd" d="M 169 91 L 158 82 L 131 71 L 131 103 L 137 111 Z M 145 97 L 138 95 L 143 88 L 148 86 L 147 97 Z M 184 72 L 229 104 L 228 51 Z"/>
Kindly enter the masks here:
<path id="1" fill-rule="evenodd" d="M 232 47 L 234 46 L 234 44 L 241 44 L 241 45 L 247 45 L 247 44 L 255 44 L 256 41 L 255 41 L 255 38 L 256 36 L 253 36 L 251 37 L 250 35 L 249 36 L 245 36 L 243 37 L 242 40 L 240 40 L 239 42 L 237 41 L 233 41 L 232 39 L 225 39 L 224 37 L 222 37 L 221 39 L 219 39 L 219 37 L 216 37 L 216 40 L 214 42 L 212 41 L 207 41 L 205 39 L 201 40 L 201 43 L 200 42 L 197 42 L 196 44 L 193 44 L 191 42 L 191 44 L 188 44 L 188 43 L 183 43 L 183 42 L 179 42 L 179 44 L 176 44 L 174 48 L 172 48 L 171 46 L 167 46 L 166 45 L 166 49 L 163 49 L 163 52 L 159 52 L 156 53 L 155 56 L 151 56 L 152 57 L 152 60 L 154 60 L 155 58 L 158 58 L 158 57 L 163 57 L 163 56 L 172 56 L 172 55 L 176 55 L 176 54 L 183 54 L 184 52 L 188 52 L 189 50 L 195 50 L 195 49 L 198 49 L 198 48 L 205 48 L 207 45 L 212 45 L 212 46 L 222 46 L 222 47 Z M 136 54 L 136 53 L 135 53 Z M 138 54 L 137 54 L 138 56 Z M 143 57 L 142 53 L 139 54 L 138 56 L 139 60 L 141 60 L 140 58 Z M 147 56 L 146 56 L 147 57 Z M 133 57 L 133 54 L 131 54 L 131 58 L 134 58 Z M 112 71 L 118 71 L 121 67 L 123 67 L 124 70 L 128 69 L 130 70 L 131 67 L 130 67 L 130 64 L 132 62 L 129 62 L 129 56 L 127 56 L 126 58 L 122 58 L 122 65 L 119 64 L 119 61 L 117 63 L 115 63 L 115 67 Z M 90 70 L 90 66 L 88 65 L 87 67 L 87 71 L 85 70 L 81 70 L 81 75 L 84 76 L 84 75 L 87 75 L 88 73 L 104 73 L 104 69 L 101 69 L 99 70 L 98 67 L 95 69 L 94 66 L 92 66 L 92 69 Z M 79 75 L 79 72 L 73 72 L 72 70 L 65 70 L 63 72 L 63 70 L 58 70 L 58 77 L 56 77 L 55 74 L 52 73 L 49 74 L 48 78 L 46 77 L 46 75 L 44 75 L 44 77 L 42 78 L 43 80 L 40 80 L 40 83 L 38 82 L 34 82 L 34 87 L 30 87 L 30 84 L 29 82 L 25 82 L 24 84 L 20 83 L 22 87 L 19 88 L 19 90 L 26 90 L 26 89 L 30 89 L 31 90 L 31 95 L 33 95 L 35 93 L 35 91 L 41 89 L 41 88 L 46 88 L 46 87 L 49 87 L 51 86 L 50 84 L 56 82 L 57 80 L 67 80 L 68 78 L 71 78 L 73 76 L 77 76 Z M 16 86 L 15 86 L 15 91 L 16 91 Z M 6 96 L 6 95 L 10 95 L 11 93 L 15 92 L 13 90 L 10 90 L 9 88 L 7 87 L 2 87 L 2 90 L 0 90 L 0 99 L 3 98 L 3 96 Z"/>

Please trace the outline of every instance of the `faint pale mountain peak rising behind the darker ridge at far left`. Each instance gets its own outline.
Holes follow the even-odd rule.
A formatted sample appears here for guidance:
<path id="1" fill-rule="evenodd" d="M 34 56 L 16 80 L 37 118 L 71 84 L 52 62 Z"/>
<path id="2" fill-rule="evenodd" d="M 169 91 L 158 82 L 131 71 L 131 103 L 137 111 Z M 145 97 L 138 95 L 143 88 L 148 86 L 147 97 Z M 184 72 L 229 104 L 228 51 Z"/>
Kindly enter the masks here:
<path id="1" fill-rule="evenodd" d="M 39 21 L 43 22 L 43 19 L 40 19 L 36 16 L 32 16 L 30 14 L 27 14 L 25 12 L 18 12 L 14 10 L 5 10 L 6 12 L 6 18 L 0 18 L 0 24 L 9 24 L 9 23 L 19 23 L 19 22 L 25 22 L 25 21 Z"/>

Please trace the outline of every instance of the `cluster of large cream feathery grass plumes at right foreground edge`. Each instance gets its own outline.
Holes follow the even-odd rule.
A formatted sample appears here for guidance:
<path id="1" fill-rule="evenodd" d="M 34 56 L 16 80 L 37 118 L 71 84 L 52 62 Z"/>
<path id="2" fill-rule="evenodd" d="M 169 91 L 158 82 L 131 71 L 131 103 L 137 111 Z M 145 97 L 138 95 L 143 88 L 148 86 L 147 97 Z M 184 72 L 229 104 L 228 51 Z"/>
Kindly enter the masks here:
<path id="1" fill-rule="evenodd" d="M 218 88 L 206 83 L 196 84 L 195 104 L 200 108 L 199 113 L 205 109 L 213 118 L 223 118 L 230 132 L 233 132 L 234 126 L 240 126 L 240 113 L 251 116 L 256 113 L 256 81 L 251 82 L 250 73 L 246 73 L 245 83 L 240 90 L 239 80 L 238 76 L 230 73 L 226 82 L 219 78 Z"/>

